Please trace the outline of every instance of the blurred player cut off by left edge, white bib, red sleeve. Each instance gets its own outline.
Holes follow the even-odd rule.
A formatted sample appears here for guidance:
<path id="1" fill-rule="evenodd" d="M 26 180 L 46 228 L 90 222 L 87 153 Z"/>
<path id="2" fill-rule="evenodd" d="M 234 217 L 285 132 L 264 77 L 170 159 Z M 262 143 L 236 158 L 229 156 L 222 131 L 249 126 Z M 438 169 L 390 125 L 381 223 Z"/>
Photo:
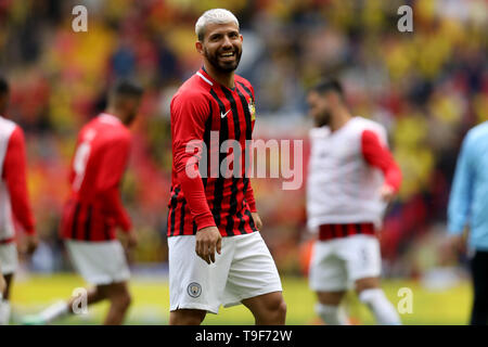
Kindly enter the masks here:
<path id="1" fill-rule="evenodd" d="M 24 132 L 3 117 L 8 105 L 9 83 L 0 78 L 0 265 L 5 284 L 0 292 L 0 325 L 10 321 L 10 292 L 18 262 L 15 224 L 26 234 L 27 254 L 38 245 L 27 192 Z"/>

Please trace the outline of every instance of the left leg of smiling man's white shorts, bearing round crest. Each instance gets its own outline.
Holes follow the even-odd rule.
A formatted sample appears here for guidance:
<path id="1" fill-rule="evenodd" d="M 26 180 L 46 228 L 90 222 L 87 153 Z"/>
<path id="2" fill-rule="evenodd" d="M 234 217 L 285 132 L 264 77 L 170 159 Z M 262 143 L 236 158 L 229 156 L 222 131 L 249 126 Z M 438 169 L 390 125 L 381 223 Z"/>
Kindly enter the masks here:
<path id="1" fill-rule="evenodd" d="M 196 255 L 195 242 L 194 235 L 168 237 L 170 311 L 217 313 L 232 261 L 232 241 L 222 240 L 221 254 L 216 254 L 216 261 L 210 265 Z"/>

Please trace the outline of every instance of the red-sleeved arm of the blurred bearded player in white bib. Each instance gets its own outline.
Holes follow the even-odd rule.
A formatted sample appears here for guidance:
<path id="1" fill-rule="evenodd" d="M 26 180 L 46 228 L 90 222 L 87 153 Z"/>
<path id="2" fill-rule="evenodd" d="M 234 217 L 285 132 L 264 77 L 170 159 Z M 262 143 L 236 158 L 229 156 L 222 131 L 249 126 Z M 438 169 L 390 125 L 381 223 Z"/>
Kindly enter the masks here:
<path id="1" fill-rule="evenodd" d="M 389 150 L 384 146 L 371 130 L 364 130 L 361 136 L 361 151 L 364 160 L 383 171 L 385 176 L 384 192 L 390 190 L 391 195 L 397 193 L 401 184 L 401 171 Z"/>

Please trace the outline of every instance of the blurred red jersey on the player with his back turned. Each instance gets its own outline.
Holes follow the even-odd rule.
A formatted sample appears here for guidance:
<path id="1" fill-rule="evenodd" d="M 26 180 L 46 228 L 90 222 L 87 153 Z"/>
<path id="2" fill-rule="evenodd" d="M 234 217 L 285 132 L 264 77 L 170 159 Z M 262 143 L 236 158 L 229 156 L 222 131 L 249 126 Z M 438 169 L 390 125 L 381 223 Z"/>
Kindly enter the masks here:
<path id="1" fill-rule="evenodd" d="M 119 192 L 129 150 L 130 132 L 113 115 L 103 113 L 81 129 L 69 172 L 72 192 L 63 210 L 63 239 L 110 241 L 116 237 L 116 227 L 130 230 Z"/>

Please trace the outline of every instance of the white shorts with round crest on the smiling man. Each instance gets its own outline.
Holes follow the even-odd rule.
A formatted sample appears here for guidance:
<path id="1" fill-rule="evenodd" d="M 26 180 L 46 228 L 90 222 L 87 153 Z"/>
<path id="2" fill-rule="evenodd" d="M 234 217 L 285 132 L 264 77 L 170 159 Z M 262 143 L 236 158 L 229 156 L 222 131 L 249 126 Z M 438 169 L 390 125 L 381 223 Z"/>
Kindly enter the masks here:
<path id="1" fill-rule="evenodd" d="M 195 253 L 195 235 L 168 237 L 169 310 L 218 313 L 220 305 L 281 292 L 274 260 L 259 232 L 222 237 L 221 254 L 208 265 Z"/>

